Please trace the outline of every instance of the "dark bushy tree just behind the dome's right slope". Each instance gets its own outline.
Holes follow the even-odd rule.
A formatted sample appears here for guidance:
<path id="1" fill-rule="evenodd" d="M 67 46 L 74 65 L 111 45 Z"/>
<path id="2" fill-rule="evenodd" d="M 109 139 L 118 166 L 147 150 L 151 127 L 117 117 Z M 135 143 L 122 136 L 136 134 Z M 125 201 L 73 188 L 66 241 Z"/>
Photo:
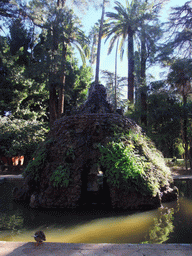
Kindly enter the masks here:
<path id="1" fill-rule="evenodd" d="M 153 82 L 148 89 L 146 133 L 164 157 L 181 157 L 178 152 L 181 138 L 182 105 L 174 89 L 165 81 Z"/>

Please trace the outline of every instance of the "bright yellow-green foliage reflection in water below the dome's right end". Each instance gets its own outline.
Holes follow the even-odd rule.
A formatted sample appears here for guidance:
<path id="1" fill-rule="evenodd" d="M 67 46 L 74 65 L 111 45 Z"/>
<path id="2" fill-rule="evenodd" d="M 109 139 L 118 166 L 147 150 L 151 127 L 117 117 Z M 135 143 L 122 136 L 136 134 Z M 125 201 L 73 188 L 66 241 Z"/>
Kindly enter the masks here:
<path id="1" fill-rule="evenodd" d="M 159 217 L 154 219 L 154 224 L 146 235 L 144 243 L 161 244 L 169 239 L 169 234 L 173 232 L 173 208 L 160 208 Z"/>

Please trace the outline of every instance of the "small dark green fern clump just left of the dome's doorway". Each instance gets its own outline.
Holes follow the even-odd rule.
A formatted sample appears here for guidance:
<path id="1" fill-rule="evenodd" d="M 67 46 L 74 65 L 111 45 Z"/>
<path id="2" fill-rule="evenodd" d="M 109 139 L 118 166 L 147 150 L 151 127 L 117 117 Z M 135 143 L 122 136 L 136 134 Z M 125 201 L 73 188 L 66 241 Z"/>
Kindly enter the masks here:
<path id="1" fill-rule="evenodd" d="M 68 187 L 70 182 L 70 168 L 69 165 L 60 165 L 51 175 L 50 180 L 54 187 Z"/>

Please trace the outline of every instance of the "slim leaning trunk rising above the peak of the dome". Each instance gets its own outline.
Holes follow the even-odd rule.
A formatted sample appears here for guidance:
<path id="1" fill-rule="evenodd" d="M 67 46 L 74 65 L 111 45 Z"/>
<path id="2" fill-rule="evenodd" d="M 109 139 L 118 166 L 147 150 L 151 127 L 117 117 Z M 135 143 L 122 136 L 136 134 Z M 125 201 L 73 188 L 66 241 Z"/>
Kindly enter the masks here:
<path id="1" fill-rule="evenodd" d="M 100 55 L 101 55 L 101 37 L 103 34 L 103 21 L 105 15 L 105 0 L 103 0 L 102 6 L 102 14 L 101 14 L 101 21 L 99 27 L 99 38 L 98 38 L 98 46 L 97 46 L 97 60 L 96 60 L 96 71 L 95 71 L 95 83 L 99 83 L 99 67 L 100 67 Z"/>

